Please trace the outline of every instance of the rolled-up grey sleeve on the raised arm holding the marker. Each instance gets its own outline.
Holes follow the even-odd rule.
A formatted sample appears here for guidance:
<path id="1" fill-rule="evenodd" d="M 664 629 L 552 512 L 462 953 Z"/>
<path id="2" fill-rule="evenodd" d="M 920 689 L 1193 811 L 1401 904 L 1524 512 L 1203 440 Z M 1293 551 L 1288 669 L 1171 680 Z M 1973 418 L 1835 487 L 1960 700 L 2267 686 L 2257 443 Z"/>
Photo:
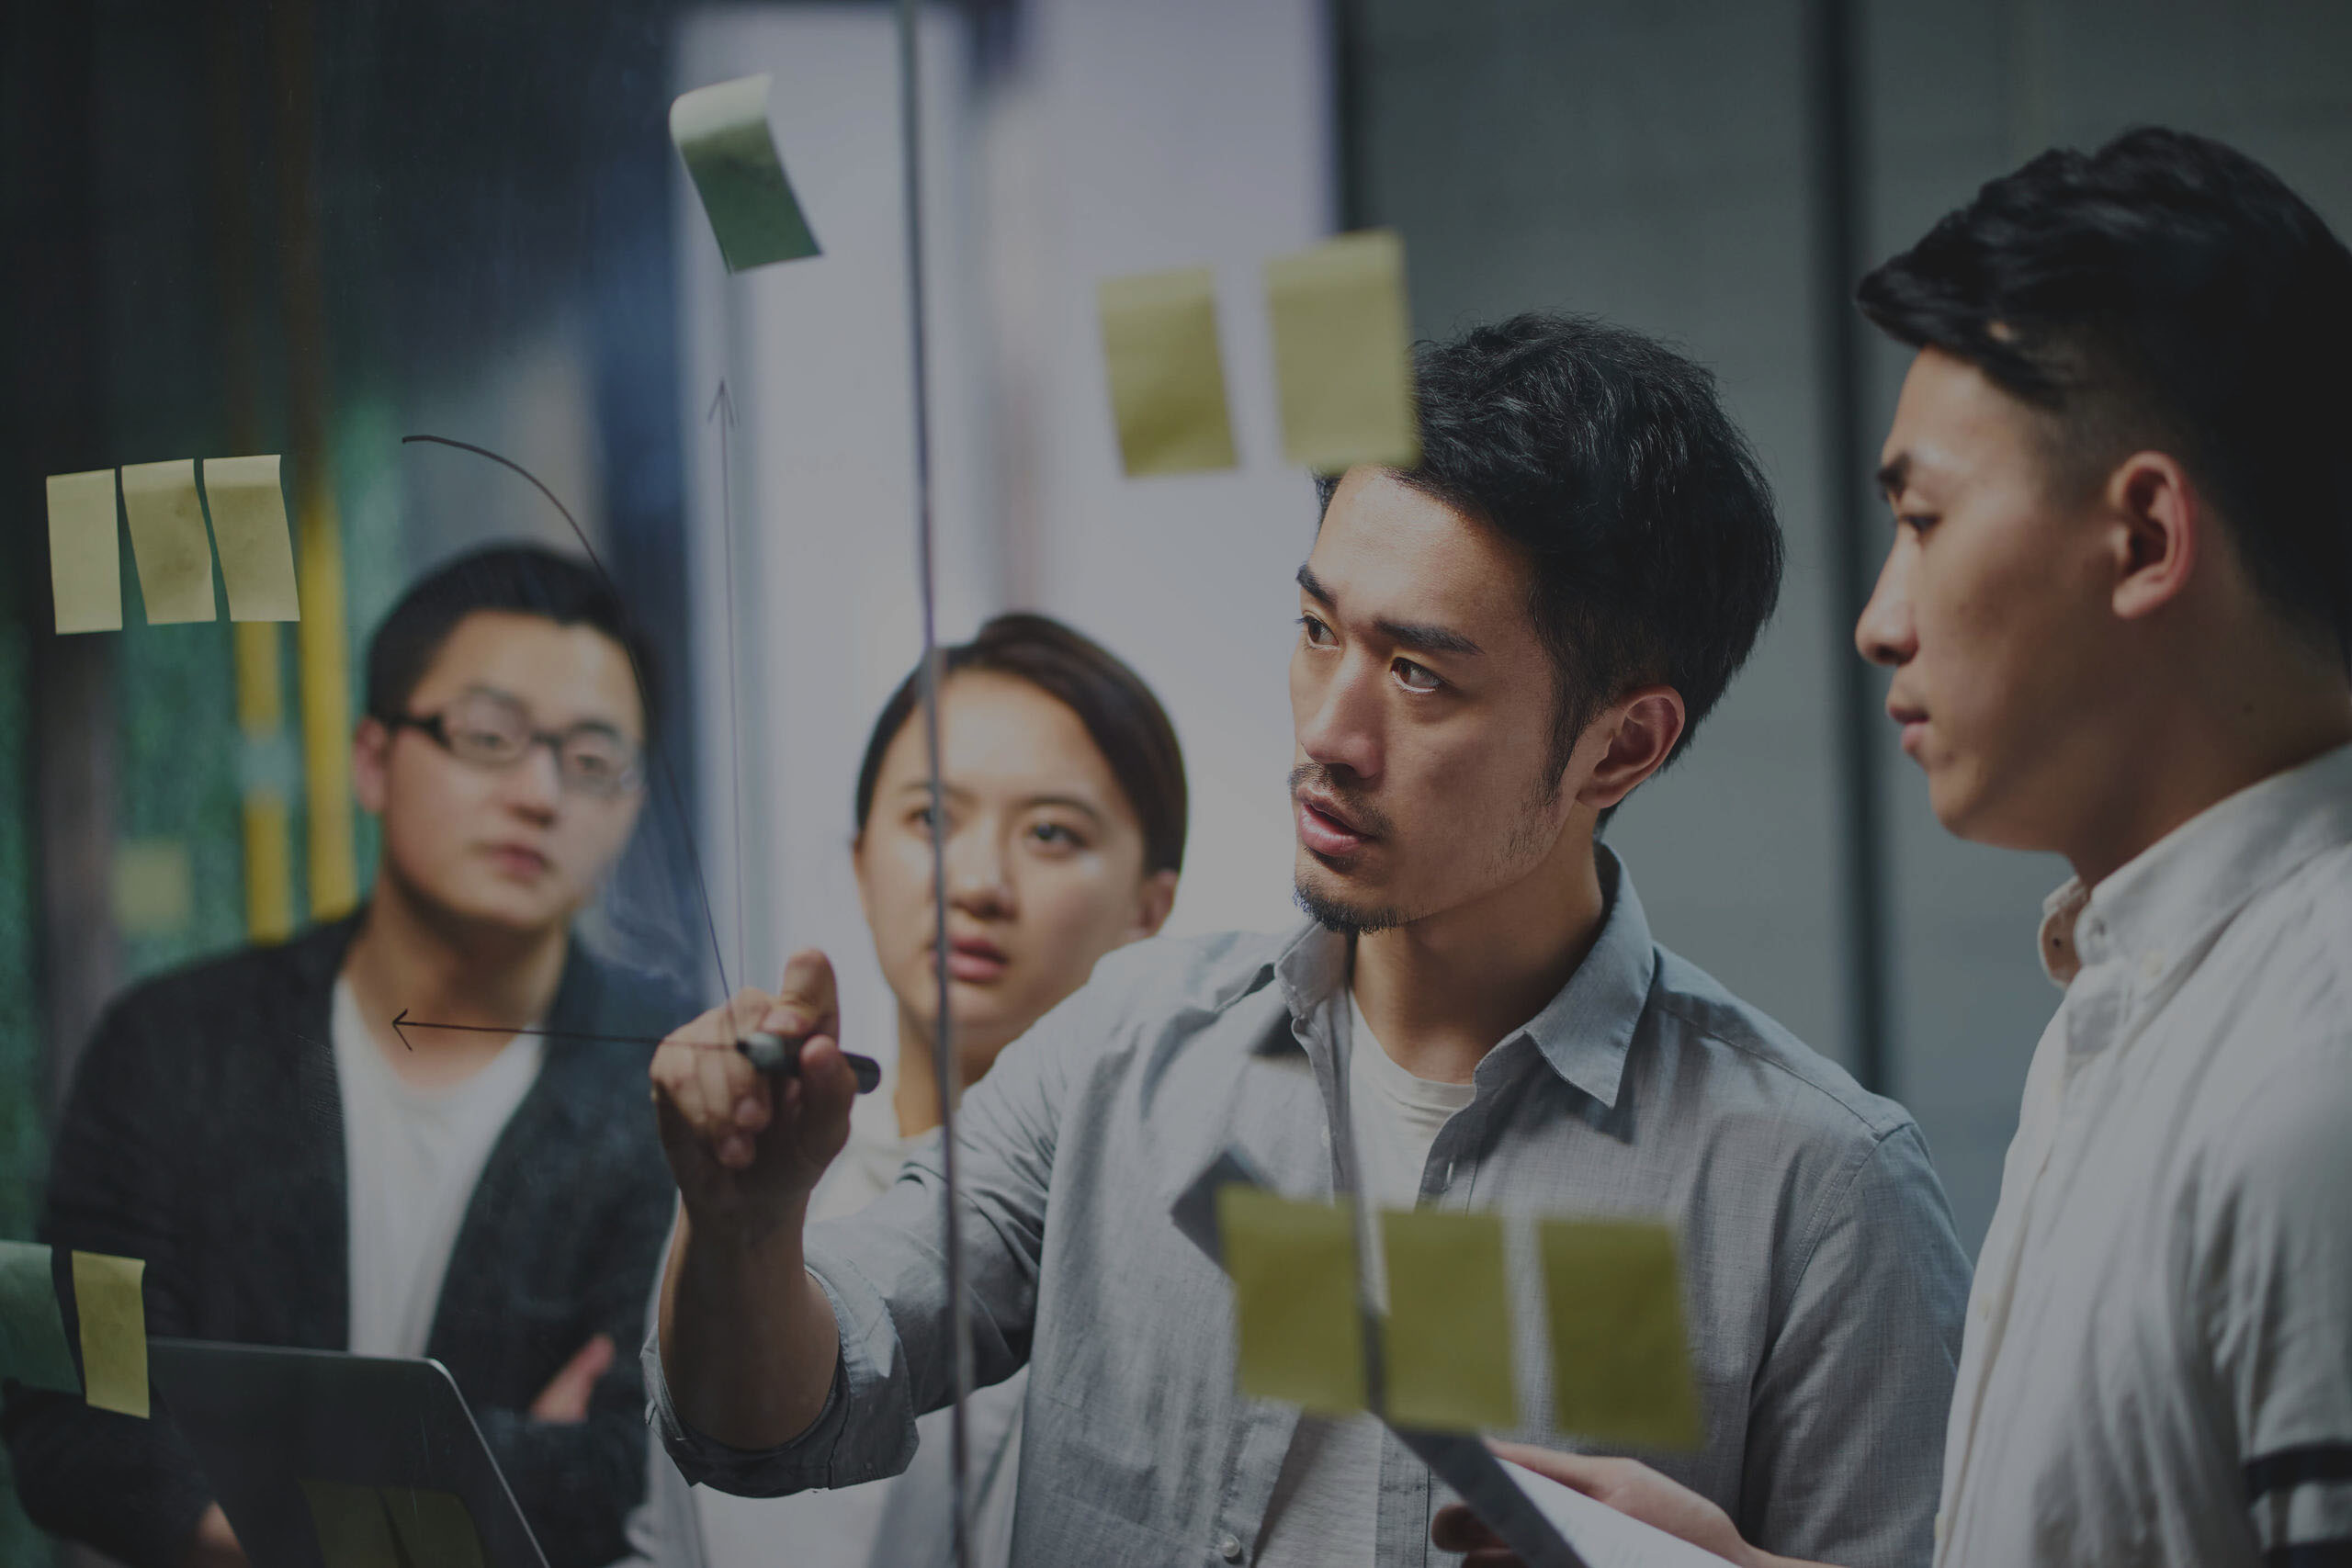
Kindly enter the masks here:
<path id="1" fill-rule="evenodd" d="M 1080 990 L 1007 1046 L 957 1112 L 974 1387 L 1028 1366 L 1070 1060 L 1105 1025 L 1094 992 Z M 833 1305 L 842 1352 L 823 1413 L 790 1443 L 741 1450 L 687 1427 L 661 1382 L 659 1335 L 647 1345 L 654 1422 L 689 1481 L 774 1497 L 877 1481 L 908 1467 L 915 1418 L 955 1396 L 943 1194 L 934 1138 L 873 1204 L 809 1227 L 809 1274 Z"/>

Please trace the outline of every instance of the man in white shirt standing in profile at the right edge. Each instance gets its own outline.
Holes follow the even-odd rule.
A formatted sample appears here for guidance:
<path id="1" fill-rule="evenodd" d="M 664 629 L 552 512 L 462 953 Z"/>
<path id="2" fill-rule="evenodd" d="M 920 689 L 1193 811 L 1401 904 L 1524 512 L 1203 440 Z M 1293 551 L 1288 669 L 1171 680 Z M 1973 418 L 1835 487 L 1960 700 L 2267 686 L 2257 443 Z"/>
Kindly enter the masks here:
<path id="1" fill-rule="evenodd" d="M 1936 1561 L 2352 1563 L 2352 254 L 2143 129 L 1858 299 L 1919 355 L 1856 642 L 1943 825 L 2074 865 Z M 1776 1561 L 1639 1465 L 1543 1467 Z"/>

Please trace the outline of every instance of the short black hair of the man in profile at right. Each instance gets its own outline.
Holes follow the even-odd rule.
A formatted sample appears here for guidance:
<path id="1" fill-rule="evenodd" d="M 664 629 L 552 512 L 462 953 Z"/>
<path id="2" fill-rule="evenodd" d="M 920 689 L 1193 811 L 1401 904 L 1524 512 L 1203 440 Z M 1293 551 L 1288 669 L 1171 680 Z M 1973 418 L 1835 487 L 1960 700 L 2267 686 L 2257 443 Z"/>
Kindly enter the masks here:
<path id="1" fill-rule="evenodd" d="M 2060 484 L 2171 454 L 2265 602 L 2352 663 L 2352 252 L 2277 174 L 2171 129 L 2044 153 L 1856 303 L 2039 409 Z"/>

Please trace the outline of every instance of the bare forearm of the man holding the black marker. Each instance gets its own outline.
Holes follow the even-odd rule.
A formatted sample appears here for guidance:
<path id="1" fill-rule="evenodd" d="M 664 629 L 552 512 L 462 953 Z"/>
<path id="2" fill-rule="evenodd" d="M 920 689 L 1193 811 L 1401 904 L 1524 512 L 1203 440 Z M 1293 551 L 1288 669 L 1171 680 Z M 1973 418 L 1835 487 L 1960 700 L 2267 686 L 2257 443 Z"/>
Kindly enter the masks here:
<path id="1" fill-rule="evenodd" d="M 826 1410 L 840 1326 L 809 1279 L 802 1213 L 696 1234 L 689 1215 L 661 1284 L 661 1368 L 677 1418 L 729 1448 L 781 1448 Z"/>

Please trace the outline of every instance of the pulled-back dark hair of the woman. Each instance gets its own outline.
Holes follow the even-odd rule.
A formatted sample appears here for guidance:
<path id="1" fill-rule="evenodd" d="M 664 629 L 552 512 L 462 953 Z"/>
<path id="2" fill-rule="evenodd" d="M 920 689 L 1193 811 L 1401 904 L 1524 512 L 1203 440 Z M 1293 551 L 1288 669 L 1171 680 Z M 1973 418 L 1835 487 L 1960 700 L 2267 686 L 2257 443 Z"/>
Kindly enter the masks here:
<path id="1" fill-rule="evenodd" d="M 1160 698 L 1115 654 L 1051 616 L 995 616 L 971 642 L 938 651 L 941 684 L 962 672 L 1009 675 L 1077 715 L 1143 827 L 1143 875 L 1181 872 L 1185 839 L 1183 748 Z M 882 703 L 858 764 L 856 823 L 873 816 L 882 757 L 922 701 L 922 665 Z"/>

